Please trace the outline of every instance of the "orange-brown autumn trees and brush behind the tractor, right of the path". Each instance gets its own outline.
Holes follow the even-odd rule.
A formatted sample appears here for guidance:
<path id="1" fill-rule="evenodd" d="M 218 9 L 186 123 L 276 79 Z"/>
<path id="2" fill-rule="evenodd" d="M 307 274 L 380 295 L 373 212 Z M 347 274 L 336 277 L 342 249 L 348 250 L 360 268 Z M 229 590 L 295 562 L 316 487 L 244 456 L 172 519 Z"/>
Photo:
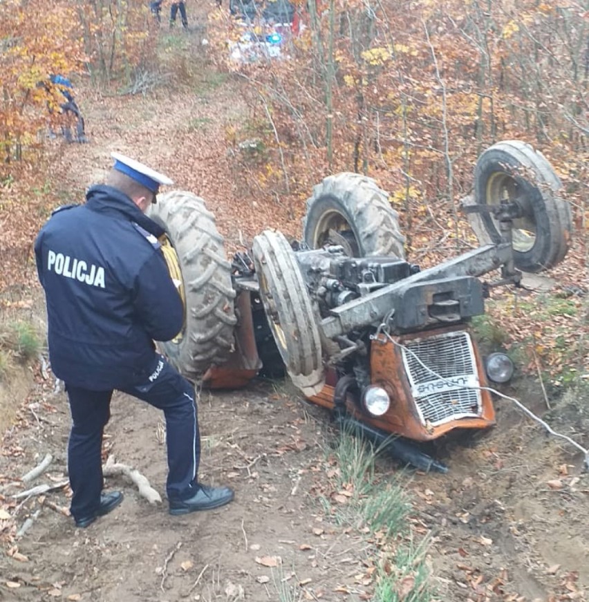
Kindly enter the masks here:
<path id="1" fill-rule="evenodd" d="M 212 15 L 218 62 L 252 83 L 252 105 L 273 124 L 263 185 L 283 195 L 300 182 L 302 198 L 327 173 L 367 173 L 402 211 L 409 250 L 442 243 L 454 253 L 471 238 L 457 203 L 477 156 L 518 139 L 548 156 L 586 227 L 589 17 L 580 4 L 332 0 L 297 10 L 306 27 L 283 42 L 283 59 L 247 63 L 223 47 L 243 29 Z"/>

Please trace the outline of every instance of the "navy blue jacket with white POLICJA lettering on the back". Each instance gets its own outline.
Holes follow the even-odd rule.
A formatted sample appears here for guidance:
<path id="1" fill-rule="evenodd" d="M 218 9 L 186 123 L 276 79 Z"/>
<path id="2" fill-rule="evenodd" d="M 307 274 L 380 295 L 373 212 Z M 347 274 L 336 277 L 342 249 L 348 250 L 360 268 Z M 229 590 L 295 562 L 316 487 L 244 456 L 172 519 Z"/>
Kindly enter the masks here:
<path id="1" fill-rule="evenodd" d="M 157 238 L 164 230 L 106 185 L 58 209 L 35 241 L 49 357 L 66 385 L 106 391 L 144 382 L 153 341 L 181 330 L 183 304 Z"/>

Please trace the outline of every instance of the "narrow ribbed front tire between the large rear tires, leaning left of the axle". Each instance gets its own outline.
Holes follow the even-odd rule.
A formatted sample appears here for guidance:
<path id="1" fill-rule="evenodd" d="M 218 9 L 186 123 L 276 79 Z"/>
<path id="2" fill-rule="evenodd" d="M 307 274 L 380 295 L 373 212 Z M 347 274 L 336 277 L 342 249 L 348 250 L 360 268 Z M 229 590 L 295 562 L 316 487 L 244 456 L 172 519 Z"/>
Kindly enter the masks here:
<path id="1" fill-rule="evenodd" d="M 292 383 L 310 397 L 325 384 L 321 339 L 294 251 L 280 232 L 254 238 L 254 264 L 268 324 Z"/>

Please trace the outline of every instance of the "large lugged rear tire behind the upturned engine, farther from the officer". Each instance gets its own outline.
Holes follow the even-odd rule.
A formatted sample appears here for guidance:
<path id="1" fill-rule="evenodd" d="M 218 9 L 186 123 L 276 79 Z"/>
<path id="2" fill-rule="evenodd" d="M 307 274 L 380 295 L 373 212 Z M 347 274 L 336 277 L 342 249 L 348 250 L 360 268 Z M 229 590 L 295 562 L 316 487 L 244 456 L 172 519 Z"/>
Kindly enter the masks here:
<path id="1" fill-rule="evenodd" d="M 359 173 L 337 173 L 314 187 L 303 236 L 312 249 L 332 244 L 354 257 L 405 256 L 399 214 L 389 194 Z"/>

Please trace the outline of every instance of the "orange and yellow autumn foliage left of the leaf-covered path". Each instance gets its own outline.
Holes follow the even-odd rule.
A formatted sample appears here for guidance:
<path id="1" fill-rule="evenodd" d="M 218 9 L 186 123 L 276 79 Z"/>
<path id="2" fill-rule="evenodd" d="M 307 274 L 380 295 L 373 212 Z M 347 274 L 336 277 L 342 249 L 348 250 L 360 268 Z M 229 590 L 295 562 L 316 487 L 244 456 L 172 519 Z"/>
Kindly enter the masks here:
<path id="1" fill-rule="evenodd" d="M 151 64 L 156 38 L 142 0 L 0 1 L 0 291 L 29 278 L 32 238 L 59 205 L 48 135 L 59 133 L 64 102 L 49 76 L 76 86 L 129 86 Z"/>

